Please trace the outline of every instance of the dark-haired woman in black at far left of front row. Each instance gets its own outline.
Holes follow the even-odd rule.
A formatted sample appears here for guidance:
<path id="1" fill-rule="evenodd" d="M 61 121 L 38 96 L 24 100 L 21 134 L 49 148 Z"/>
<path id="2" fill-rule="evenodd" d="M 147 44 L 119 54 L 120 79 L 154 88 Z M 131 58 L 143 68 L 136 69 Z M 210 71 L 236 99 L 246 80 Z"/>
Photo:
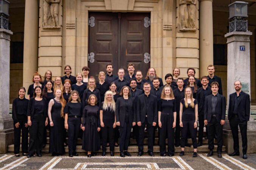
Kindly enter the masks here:
<path id="1" fill-rule="evenodd" d="M 12 119 L 14 125 L 14 154 L 20 156 L 20 130 L 22 130 L 22 155 L 28 153 L 28 99 L 25 98 L 26 89 L 19 88 L 19 96 L 12 102 Z"/>

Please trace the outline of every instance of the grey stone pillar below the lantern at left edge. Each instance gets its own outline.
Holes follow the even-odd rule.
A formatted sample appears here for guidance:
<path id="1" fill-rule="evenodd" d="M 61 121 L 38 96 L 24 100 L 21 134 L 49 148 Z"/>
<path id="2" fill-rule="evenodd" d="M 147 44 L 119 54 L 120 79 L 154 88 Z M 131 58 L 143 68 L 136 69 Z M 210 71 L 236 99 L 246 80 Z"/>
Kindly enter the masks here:
<path id="1" fill-rule="evenodd" d="M 6 153 L 13 143 L 13 121 L 9 114 L 10 89 L 10 35 L 12 32 L 0 28 L 0 153 Z"/>

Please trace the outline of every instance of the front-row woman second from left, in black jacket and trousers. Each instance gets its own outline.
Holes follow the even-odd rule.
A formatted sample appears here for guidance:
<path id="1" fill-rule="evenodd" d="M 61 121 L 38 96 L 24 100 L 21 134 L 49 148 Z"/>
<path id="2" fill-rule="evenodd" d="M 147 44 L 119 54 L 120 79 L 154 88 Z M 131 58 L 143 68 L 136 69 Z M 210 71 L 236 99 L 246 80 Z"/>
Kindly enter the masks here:
<path id="1" fill-rule="evenodd" d="M 33 97 L 28 102 L 28 126 L 30 126 L 30 138 L 28 147 L 28 158 L 37 153 L 41 157 L 43 148 L 43 134 L 44 127 L 48 124 L 47 104 L 46 100 L 42 97 L 42 88 L 36 86 L 34 89 Z"/>

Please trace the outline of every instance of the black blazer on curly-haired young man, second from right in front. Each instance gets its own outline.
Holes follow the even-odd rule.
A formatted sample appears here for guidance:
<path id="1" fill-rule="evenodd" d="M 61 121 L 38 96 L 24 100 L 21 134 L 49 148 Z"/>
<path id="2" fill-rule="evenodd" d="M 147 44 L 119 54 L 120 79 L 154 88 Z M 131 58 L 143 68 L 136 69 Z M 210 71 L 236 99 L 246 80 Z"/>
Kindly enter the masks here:
<path id="1" fill-rule="evenodd" d="M 215 108 L 216 111 L 216 119 L 218 122 L 220 120 L 225 120 L 226 115 L 226 99 L 225 96 L 221 94 L 217 94 L 217 105 Z M 204 120 L 207 119 L 208 122 L 211 122 L 212 118 L 212 94 L 205 97 L 204 104 Z"/>

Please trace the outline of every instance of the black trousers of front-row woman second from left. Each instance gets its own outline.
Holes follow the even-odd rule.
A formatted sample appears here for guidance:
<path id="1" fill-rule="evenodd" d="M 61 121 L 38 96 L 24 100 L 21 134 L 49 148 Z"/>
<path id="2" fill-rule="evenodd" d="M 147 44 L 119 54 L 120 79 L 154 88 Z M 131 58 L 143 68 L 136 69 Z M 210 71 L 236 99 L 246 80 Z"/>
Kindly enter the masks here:
<path id="1" fill-rule="evenodd" d="M 31 127 L 29 129 L 29 147 L 28 155 L 41 154 L 43 148 L 43 135 L 44 135 L 45 119 L 44 115 L 36 115 L 32 119 Z"/>

